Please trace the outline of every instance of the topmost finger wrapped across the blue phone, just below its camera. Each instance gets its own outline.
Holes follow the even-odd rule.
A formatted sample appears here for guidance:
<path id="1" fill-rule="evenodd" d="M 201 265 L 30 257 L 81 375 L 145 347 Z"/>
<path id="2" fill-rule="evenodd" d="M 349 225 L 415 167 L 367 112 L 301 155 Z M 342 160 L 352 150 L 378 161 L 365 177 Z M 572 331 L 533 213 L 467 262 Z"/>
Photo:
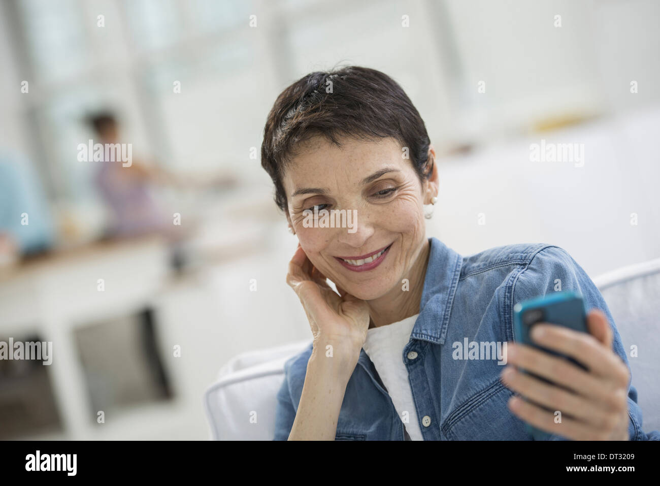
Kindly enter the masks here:
<path id="1" fill-rule="evenodd" d="M 572 357 L 598 376 L 627 380 L 620 366 L 621 359 L 591 334 L 543 323 L 534 326 L 531 338 L 543 347 Z"/>

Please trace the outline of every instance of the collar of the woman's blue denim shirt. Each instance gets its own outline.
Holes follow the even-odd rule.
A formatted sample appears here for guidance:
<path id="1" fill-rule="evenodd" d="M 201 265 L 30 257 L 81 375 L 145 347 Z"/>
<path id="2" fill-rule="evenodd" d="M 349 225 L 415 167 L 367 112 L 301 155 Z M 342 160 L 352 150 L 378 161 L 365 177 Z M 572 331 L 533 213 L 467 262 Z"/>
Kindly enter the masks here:
<path id="1" fill-rule="evenodd" d="M 430 251 L 419 305 L 420 312 L 411 338 L 443 344 L 447 335 L 451 304 L 461 276 L 463 257 L 437 238 L 428 238 L 428 242 Z M 370 370 L 370 360 L 364 349 L 360 351 L 358 363 Z"/>

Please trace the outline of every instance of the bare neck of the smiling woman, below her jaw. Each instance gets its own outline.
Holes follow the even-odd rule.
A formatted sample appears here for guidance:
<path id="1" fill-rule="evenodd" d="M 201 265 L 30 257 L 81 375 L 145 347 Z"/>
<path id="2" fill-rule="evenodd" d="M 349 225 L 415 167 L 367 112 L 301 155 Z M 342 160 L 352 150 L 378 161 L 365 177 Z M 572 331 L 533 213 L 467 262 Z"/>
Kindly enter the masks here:
<path id="1" fill-rule="evenodd" d="M 407 290 L 399 282 L 387 294 L 367 301 L 371 316 L 370 329 L 387 326 L 419 313 L 430 249 L 428 238 L 425 238 L 409 276 L 404 277 L 408 279 Z"/>

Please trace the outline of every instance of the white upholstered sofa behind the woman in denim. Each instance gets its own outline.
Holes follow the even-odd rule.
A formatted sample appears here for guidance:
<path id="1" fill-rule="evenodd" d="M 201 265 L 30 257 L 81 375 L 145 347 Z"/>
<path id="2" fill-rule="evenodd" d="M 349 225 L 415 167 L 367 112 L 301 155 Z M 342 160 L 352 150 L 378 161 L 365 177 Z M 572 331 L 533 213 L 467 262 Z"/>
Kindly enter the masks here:
<path id="1" fill-rule="evenodd" d="M 660 258 L 623 267 L 593 279 L 612 312 L 638 391 L 645 432 L 660 430 Z M 214 440 L 273 440 L 277 392 L 286 360 L 312 343 L 300 341 L 264 351 L 242 353 L 224 365 L 205 393 Z M 637 345 L 638 357 L 630 357 Z M 249 422 L 259 411 L 258 422 Z"/>

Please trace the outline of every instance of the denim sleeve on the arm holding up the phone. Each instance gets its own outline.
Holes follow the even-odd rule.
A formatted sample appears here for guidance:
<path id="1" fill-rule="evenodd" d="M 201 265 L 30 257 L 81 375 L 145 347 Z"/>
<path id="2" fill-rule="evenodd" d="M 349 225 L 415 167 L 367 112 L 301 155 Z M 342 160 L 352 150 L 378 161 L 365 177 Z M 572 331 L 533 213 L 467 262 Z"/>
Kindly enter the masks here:
<path id="1" fill-rule="evenodd" d="M 612 347 L 614 353 L 628 366 L 630 364 L 621 337 L 612 319 L 605 299 L 587 273 L 562 248 L 546 246 L 537 252 L 529 265 L 520 273 L 513 285 L 513 304 L 535 296 L 546 295 L 554 291 L 573 291 L 582 296 L 585 308 L 589 312 L 598 308 L 605 316 L 614 336 Z M 628 434 L 630 440 L 660 440 L 660 432 L 652 431 L 645 434 L 642 431 L 642 411 L 637 403 L 637 390 L 628 383 Z M 565 440 L 561 436 L 552 435 L 549 440 Z"/>

